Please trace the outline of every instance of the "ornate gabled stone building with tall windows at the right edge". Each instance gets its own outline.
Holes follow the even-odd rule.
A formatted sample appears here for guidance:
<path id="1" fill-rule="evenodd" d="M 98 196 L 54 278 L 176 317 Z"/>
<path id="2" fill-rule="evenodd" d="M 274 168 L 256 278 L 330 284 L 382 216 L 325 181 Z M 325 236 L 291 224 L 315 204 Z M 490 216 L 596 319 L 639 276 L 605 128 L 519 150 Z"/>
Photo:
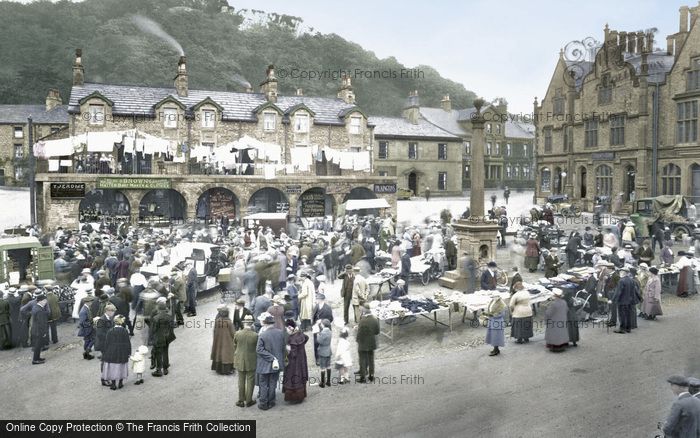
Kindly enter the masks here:
<path id="1" fill-rule="evenodd" d="M 665 50 L 652 32 L 606 25 L 587 59 L 560 52 L 545 97 L 535 100 L 538 202 L 567 194 L 590 210 L 596 198 L 620 197 L 631 211 L 648 196 L 700 200 L 699 13 L 680 8 Z"/>

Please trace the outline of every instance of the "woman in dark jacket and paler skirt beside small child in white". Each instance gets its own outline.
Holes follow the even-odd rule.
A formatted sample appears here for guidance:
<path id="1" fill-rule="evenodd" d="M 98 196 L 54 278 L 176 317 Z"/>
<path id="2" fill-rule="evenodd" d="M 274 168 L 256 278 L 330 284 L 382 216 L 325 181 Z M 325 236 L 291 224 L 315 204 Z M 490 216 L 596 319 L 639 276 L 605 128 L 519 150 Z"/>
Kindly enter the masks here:
<path id="1" fill-rule="evenodd" d="M 114 317 L 114 327 L 105 336 L 102 349 L 102 379 L 111 381 L 110 389 L 116 390 L 124 386 L 123 380 L 129 373 L 129 356 L 131 356 L 131 339 L 124 328 L 126 318 L 122 315 Z M 119 386 L 117 386 L 117 380 Z"/>

